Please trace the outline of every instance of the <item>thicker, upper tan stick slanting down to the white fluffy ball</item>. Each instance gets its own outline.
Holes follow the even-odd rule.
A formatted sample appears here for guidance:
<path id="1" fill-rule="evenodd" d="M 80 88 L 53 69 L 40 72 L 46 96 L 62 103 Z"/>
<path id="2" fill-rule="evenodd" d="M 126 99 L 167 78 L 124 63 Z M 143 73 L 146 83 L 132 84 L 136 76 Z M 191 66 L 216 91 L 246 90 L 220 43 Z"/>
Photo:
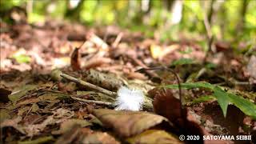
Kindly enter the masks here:
<path id="1" fill-rule="evenodd" d="M 99 87 L 99 86 L 95 86 L 94 84 L 83 81 L 79 78 L 74 78 L 74 77 L 72 77 L 70 75 L 67 75 L 67 74 L 60 74 L 60 76 L 62 76 L 63 78 L 66 78 L 67 80 L 70 80 L 72 82 L 76 82 L 79 85 L 86 86 L 86 87 L 89 87 L 90 89 L 97 90 L 98 92 L 109 95 L 112 98 L 116 98 L 116 96 L 117 96 L 117 93 L 115 93 L 113 91 L 103 89 L 102 87 Z"/>

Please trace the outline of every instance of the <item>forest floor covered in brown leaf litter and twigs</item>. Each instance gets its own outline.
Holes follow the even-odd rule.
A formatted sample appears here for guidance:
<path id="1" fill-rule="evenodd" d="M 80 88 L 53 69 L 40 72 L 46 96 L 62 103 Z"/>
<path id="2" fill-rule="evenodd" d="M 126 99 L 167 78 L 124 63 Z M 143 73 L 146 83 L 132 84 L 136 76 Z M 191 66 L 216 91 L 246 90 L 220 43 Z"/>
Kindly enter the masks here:
<path id="1" fill-rule="evenodd" d="M 251 135 L 256 142 L 255 112 L 250 111 L 256 102 L 255 47 L 238 53 L 228 42 L 214 42 L 214 52 L 206 56 L 196 40 L 162 43 L 117 26 L 86 28 L 55 21 L 41 26 L 1 23 L 0 40 L 3 143 L 178 143 L 178 137 L 170 134 L 179 136 L 184 131 Z M 240 51 L 246 49 L 244 45 Z M 150 67 L 158 68 L 146 70 Z M 254 108 L 246 111 L 233 102 L 225 118 L 219 99 L 209 96 L 213 90 L 198 86 L 182 90 L 180 96 L 177 89 L 159 88 L 178 83 L 169 69 L 179 75 L 181 83 L 209 82 L 254 103 Z M 81 79 L 93 86 L 82 84 Z M 120 86 L 146 94 L 141 111 L 114 110 Z M 182 97 L 186 108 L 175 98 L 162 102 L 163 95 Z M 172 125 L 156 128 L 164 122 Z M 145 130 L 148 133 L 142 133 Z"/>

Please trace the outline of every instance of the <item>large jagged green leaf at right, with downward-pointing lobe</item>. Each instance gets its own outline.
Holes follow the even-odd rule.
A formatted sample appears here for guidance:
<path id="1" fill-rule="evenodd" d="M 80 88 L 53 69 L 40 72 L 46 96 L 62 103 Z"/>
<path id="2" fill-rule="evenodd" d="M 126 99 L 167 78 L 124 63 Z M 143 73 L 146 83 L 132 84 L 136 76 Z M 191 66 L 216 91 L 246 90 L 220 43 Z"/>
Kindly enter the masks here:
<path id="1" fill-rule="evenodd" d="M 256 119 L 256 105 L 253 102 L 235 94 L 228 93 L 222 90 L 220 86 L 214 86 L 208 82 L 187 82 L 182 83 L 181 86 L 183 89 L 206 88 L 212 90 L 214 92 L 213 96 L 217 98 L 218 104 L 222 108 L 224 117 L 226 117 L 227 106 L 233 103 L 234 106 L 237 106 L 244 114 Z M 177 89 L 178 85 L 167 85 L 165 87 Z"/>

